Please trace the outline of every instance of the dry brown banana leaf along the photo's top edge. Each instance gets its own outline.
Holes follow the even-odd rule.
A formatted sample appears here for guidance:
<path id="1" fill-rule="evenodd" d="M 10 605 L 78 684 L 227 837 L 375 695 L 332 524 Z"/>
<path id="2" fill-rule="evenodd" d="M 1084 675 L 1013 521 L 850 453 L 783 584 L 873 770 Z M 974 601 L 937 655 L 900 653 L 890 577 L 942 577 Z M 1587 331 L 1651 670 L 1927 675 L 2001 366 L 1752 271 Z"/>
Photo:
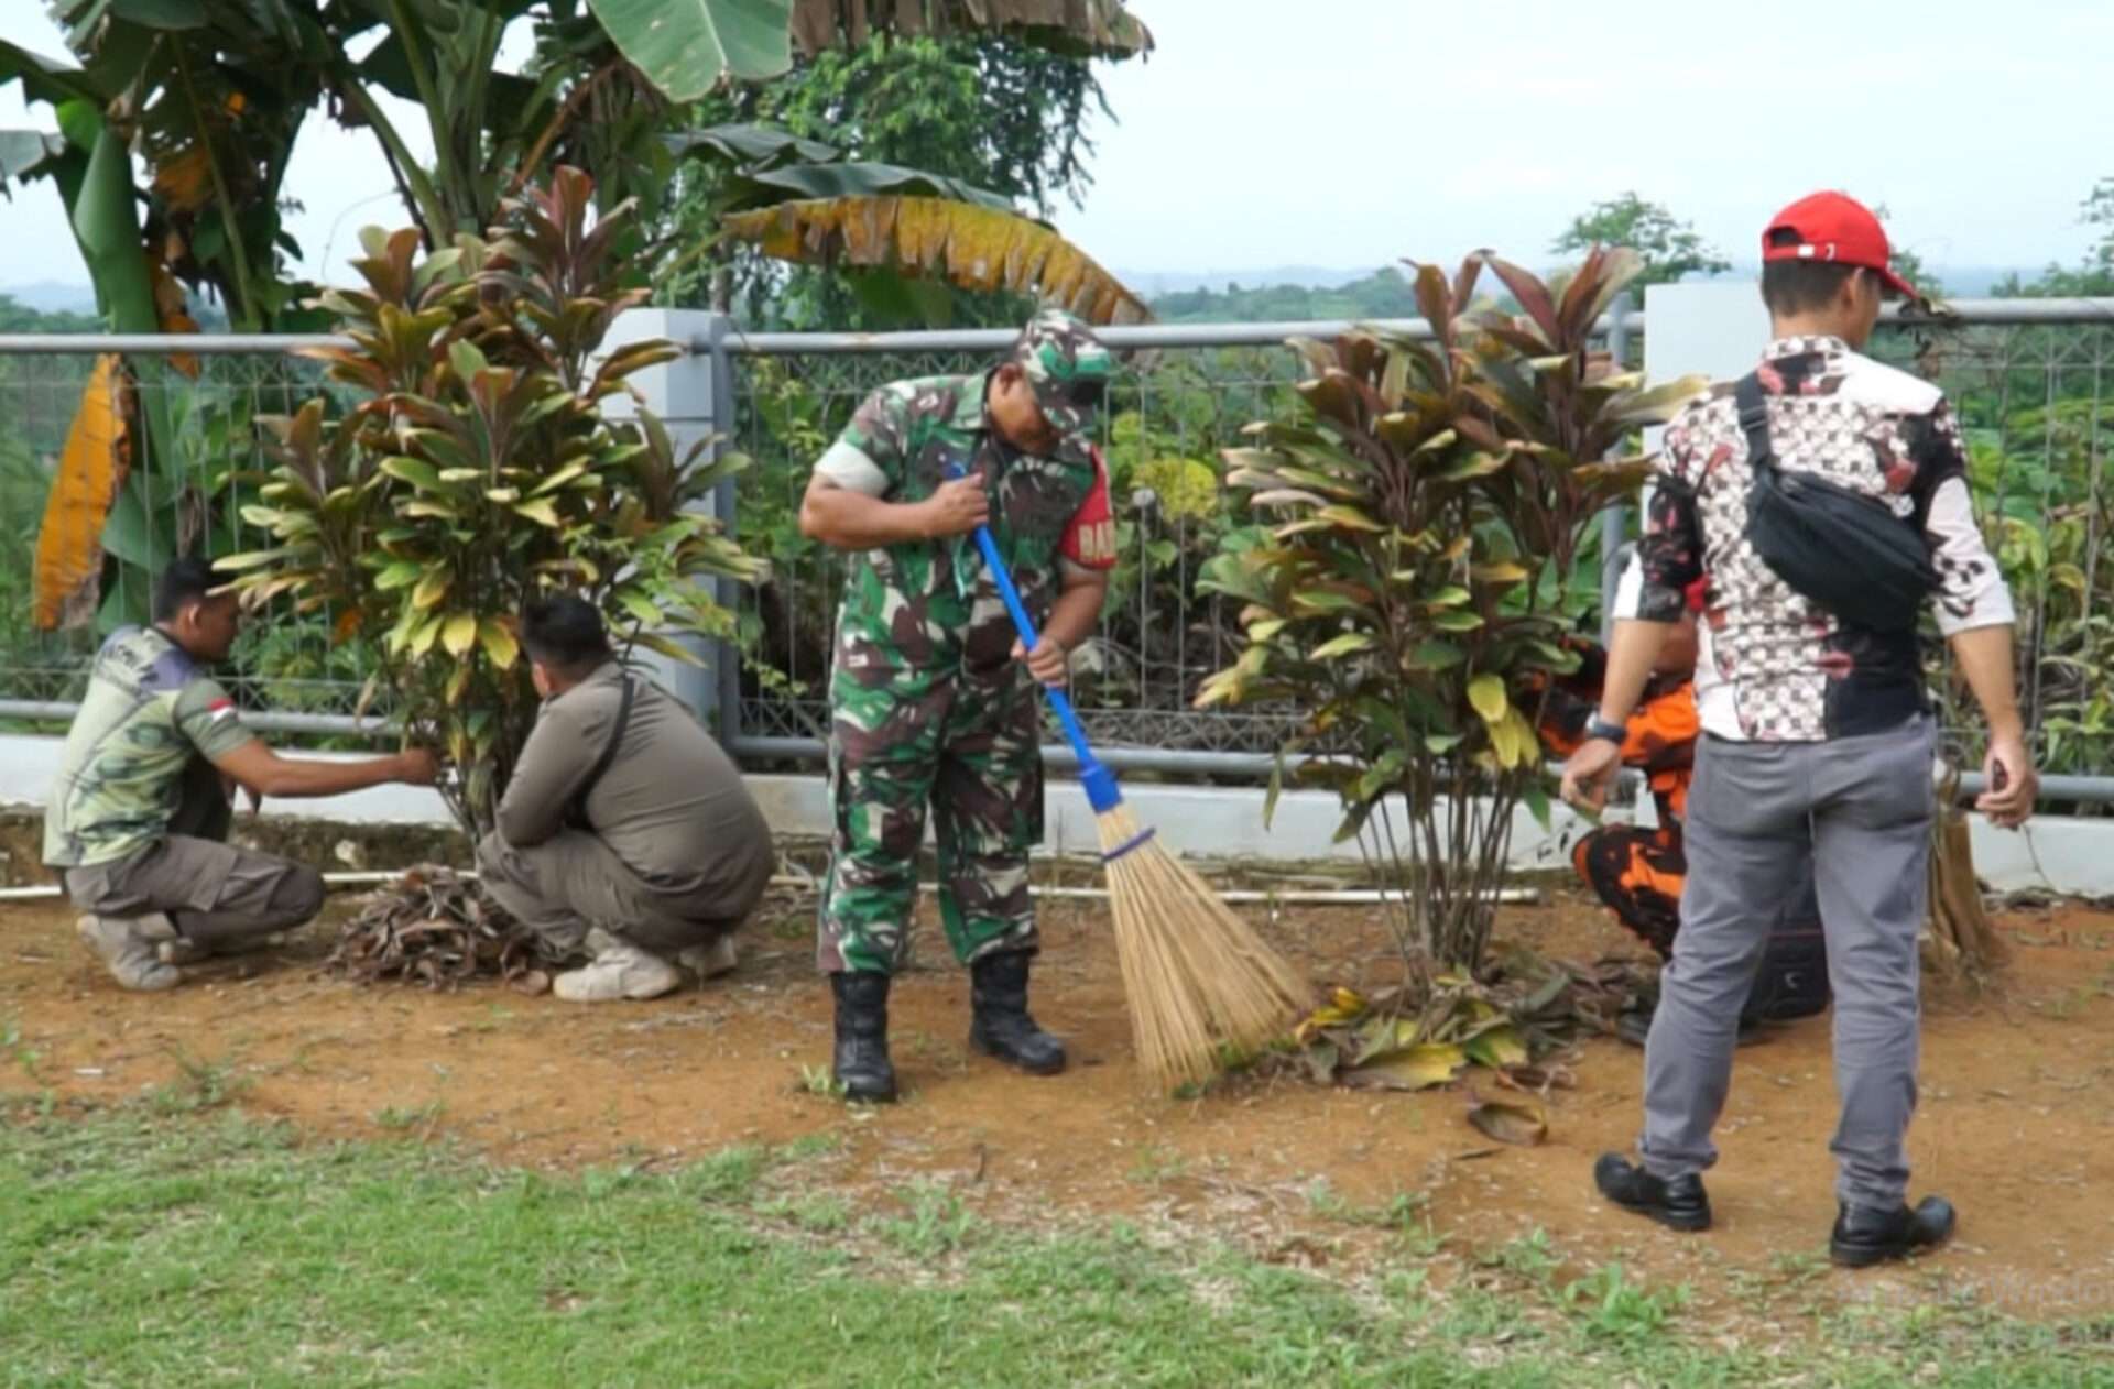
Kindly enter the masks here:
<path id="1" fill-rule="evenodd" d="M 801 55 L 867 42 L 875 30 L 951 34 L 1013 30 L 1030 42 L 1076 57 L 1137 57 L 1152 32 L 1123 0 L 795 0 L 793 42 Z"/>

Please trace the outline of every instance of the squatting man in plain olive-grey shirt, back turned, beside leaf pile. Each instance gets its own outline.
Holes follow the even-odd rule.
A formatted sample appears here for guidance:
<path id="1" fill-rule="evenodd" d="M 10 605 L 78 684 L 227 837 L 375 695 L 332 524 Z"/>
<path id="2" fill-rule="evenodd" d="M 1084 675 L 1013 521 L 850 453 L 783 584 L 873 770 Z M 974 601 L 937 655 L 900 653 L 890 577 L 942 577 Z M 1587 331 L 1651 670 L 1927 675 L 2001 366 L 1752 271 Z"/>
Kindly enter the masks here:
<path id="1" fill-rule="evenodd" d="M 628 672 L 583 598 L 522 615 L 543 710 L 478 869 L 501 907 L 590 964 L 558 998 L 660 998 L 734 968 L 734 928 L 769 886 L 769 827 L 689 708 Z"/>

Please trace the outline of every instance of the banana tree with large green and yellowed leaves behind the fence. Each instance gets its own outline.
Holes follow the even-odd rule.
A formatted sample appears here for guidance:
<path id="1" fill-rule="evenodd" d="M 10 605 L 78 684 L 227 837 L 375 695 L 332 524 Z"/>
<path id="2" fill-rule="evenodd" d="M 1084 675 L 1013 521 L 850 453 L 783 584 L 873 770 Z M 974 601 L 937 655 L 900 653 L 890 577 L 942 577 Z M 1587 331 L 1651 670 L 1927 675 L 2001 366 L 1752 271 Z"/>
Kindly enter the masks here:
<path id="1" fill-rule="evenodd" d="M 1144 25 L 1118 0 L 896 4 L 871 25 L 858 0 L 548 0 L 535 11 L 524 0 L 63 0 L 55 13 L 80 68 L 0 40 L 0 82 L 19 82 L 32 101 L 49 101 L 59 116 L 57 133 L 0 133 L 0 175 L 57 182 L 97 300 L 116 332 L 194 328 L 180 285 L 216 294 L 237 328 L 317 326 L 300 309 L 313 288 L 290 275 L 298 247 L 279 220 L 294 142 L 317 104 L 342 125 L 374 133 L 433 252 L 461 235 L 482 233 L 509 195 L 558 161 L 598 169 L 596 197 L 605 209 L 636 197 L 651 214 L 676 159 L 676 150 L 655 140 L 674 121 L 672 104 L 717 82 L 780 74 L 795 61 L 795 42 L 812 53 L 829 42 L 858 42 L 869 27 L 896 34 L 1013 27 L 1034 42 L 1076 53 L 1125 57 L 1150 47 Z M 535 53 L 520 72 L 503 72 L 501 38 L 518 19 L 531 25 Z M 353 49 L 376 32 L 381 42 L 355 59 Z M 391 121 L 381 93 L 419 106 L 433 146 L 429 163 Z M 144 161 L 146 178 L 137 186 L 131 152 Z M 772 178 L 793 175 L 786 167 L 753 173 L 740 209 L 818 197 L 814 182 L 797 180 L 765 192 Z M 863 178 L 869 192 L 962 195 L 920 186 L 911 171 L 875 178 L 837 163 L 829 178 Z M 824 186 L 831 186 L 827 178 Z M 983 241 L 949 233 L 937 245 L 960 241 L 964 249 L 915 266 L 943 273 L 968 271 L 977 260 L 970 247 L 994 245 L 1000 235 L 1034 247 L 1053 239 L 1034 224 L 1013 226 L 1010 209 L 970 214 L 968 207 L 975 203 L 953 211 L 920 205 L 907 216 L 896 207 L 888 224 L 937 226 L 953 216 L 983 228 Z M 816 207 L 797 226 L 814 228 L 827 216 Z M 991 230 L 1000 226 L 1004 233 Z M 755 226 L 744 235 L 763 241 L 767 252 L 837 254 L 820 233 L 767 237 L 765 230 Z M 643 237 L 630 235 L 628 249 L 643 252 Z M 863 264 L 858 247 L 848 258 Z M 1070 247 L 1042 247 L 1030 258 L 1040 279 L 1021 283 L 1068 285 L 1063 296 L 1089 311 L 1137 311 L 1133 298 L 1110 292 L 1106 275 Z M 979 273 L 968 283 L 985 279 Z M 169 366 L 120 368 L 112 362 L 99 370 L 163 374 Z M 123 391 L 106 387 L 101 400 L 123 400 Z M 108 436 L 110 457 L 93 465 L 76 465 L 70 457 L 53 486 L 53 505 L 66 499 L 66 543 L 55 543 L 53 554 L 70 556 L 51 569 L 49 581 L 40 571 L 38 609 L 53 622 L 59 613 L 95 607 L 85 605 L 82 594 L 93 598 L 104 550 L 140 569 L 167 558 L 154 550 L 154 529 L 144 524 L 165 501 L 154 480 L 173 457 L 167 391 L 140 391 L 135 400 L 144 440 L 133 438 L 129 414 L 118 416 L 116 429 L 87 431 L 82 438 Z M 116 490 L 106 486 L 112 476 Z M 135 524 L 120 526 L 123 514 L 135 514 Z M 51 516 L 61 524 L 61 512 Z M 144 592 L 142 584 L 123 588 Z M 104 613 L 106 624 L 114 617 Z"/>

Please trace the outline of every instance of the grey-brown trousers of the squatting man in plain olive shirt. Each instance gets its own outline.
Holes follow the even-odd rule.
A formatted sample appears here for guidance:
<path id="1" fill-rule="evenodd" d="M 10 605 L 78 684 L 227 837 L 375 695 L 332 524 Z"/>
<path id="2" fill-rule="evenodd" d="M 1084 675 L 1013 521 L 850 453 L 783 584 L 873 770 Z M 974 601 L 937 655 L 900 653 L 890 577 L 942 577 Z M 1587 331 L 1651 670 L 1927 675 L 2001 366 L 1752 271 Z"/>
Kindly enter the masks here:
<path id="1" fill-rule="evenodd" d="M 763 901 L 769 873 L 765 854 L 750 873 L 753 882 L 664 892 L 643 882 L 598 837 L 577 829 L 558 831 L 531 848 L 514 848 L 497 831 L 478 844 L 484 890 L 558 953 L 577 951 L 590 926 L 655 956 L 712 945 Z"/>

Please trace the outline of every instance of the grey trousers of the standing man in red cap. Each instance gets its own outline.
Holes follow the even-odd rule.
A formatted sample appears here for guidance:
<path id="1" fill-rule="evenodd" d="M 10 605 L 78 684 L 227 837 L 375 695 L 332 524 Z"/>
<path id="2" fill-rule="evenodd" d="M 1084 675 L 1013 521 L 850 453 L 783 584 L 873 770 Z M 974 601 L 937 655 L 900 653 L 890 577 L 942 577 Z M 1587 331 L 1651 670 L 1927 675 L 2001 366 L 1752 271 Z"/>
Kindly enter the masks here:
<path id="1" fill-rule="evenodd" d="M 1898 1207 L 1915 1112 L 1917 934 L 1932 816 L 1932 725 L 1833 742 L 1704 736 L 1689 786 L 1681 947 L 1645 1047 L 1645 1169 L 1717 1163 L 1740 1004 L 1786 884 L 1812 863 L 1835 992 L 1835 1194 Z"/>

